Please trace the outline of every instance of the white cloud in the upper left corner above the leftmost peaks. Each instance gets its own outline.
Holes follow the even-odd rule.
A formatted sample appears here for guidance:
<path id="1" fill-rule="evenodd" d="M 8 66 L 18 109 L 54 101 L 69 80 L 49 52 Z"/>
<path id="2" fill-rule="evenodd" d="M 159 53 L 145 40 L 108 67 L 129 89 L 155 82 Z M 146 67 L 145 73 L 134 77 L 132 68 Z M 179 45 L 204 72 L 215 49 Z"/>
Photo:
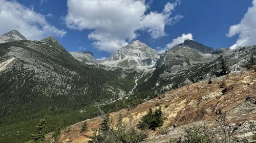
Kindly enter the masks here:
<path id="1" fill-rule="evenodd" d="M 16 1 L 0 0 L 0 19 L 0 34 L 17 30 L 30 40 L 41 40 L 50 35 L 63 37 L 67 34 L 48 23 L 44 15 Z"/>

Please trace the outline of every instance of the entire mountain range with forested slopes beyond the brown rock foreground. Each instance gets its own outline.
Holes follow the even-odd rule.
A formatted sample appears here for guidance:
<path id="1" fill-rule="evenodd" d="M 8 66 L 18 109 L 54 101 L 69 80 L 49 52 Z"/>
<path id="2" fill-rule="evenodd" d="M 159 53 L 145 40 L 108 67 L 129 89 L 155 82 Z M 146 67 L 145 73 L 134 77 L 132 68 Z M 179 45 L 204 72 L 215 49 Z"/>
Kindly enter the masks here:
<path id="1" fill-rule="evenodd" d="M 214 50 L 185 40 L 160 55 L 136 40 L 98 61 L 90 51 L 68 52 L 51 36 L 30 41 L 11 31 L 0 36 L 0 43 L 0 127 L 6 128 L 41 118 L 46 108 L 60 116 L 92 108 L 94 101 L 106 112 L 136 106 L 215 78 L 223 67 L 230 72 L 248 68 L 256 51 L 256 45 Z M 65 119 L 66 126 L 79 120 Z"/>

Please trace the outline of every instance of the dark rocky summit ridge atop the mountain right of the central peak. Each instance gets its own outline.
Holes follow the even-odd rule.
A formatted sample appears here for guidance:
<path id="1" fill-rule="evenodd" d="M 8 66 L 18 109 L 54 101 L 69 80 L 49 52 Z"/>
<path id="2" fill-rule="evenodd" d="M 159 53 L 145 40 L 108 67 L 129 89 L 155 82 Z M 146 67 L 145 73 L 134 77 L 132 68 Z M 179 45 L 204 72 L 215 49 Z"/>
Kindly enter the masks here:
<path id="1" fill-rule="evenodd" d="M 214 52 L 214 48 L 205 46 L 205 45 L 198 43 L 196 41 L 193 41 L 193 40 L 185 40 L 184 43 L 179 44 L 178 46 L 193 48 L 193 49 L 201 51 L 202 53 Z"/>

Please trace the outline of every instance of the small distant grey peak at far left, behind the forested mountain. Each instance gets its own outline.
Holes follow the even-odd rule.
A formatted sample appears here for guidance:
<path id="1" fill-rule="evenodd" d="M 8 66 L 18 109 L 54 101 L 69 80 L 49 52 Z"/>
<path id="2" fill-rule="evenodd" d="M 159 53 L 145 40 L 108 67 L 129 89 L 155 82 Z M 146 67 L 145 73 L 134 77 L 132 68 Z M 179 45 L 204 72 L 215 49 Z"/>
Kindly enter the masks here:
<path id="1" fill-rule="evenodd" d="M 27 40 L 27 39 L 16 30 L 10 31 L 0 36 L 0 43 L 19 41 L 19 40 Z"/>

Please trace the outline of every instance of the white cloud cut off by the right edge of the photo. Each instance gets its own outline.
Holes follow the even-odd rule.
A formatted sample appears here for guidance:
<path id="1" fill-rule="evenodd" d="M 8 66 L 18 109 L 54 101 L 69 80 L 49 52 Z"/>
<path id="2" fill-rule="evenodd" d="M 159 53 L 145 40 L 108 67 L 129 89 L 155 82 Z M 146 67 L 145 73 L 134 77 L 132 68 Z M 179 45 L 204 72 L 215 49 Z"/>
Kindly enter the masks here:
<path id="1" fill-rule="evenodd" d="M 252 7 L 248 8 L 243 19 L 239 24 L 232 25 L 229 28 L 227 37 L 233 37 L 239 34 L 236 44 L 230 48 L 236 49 L 240 46 L 249 46 L 256 44 L 256 0 L 252 1 Z"/>

